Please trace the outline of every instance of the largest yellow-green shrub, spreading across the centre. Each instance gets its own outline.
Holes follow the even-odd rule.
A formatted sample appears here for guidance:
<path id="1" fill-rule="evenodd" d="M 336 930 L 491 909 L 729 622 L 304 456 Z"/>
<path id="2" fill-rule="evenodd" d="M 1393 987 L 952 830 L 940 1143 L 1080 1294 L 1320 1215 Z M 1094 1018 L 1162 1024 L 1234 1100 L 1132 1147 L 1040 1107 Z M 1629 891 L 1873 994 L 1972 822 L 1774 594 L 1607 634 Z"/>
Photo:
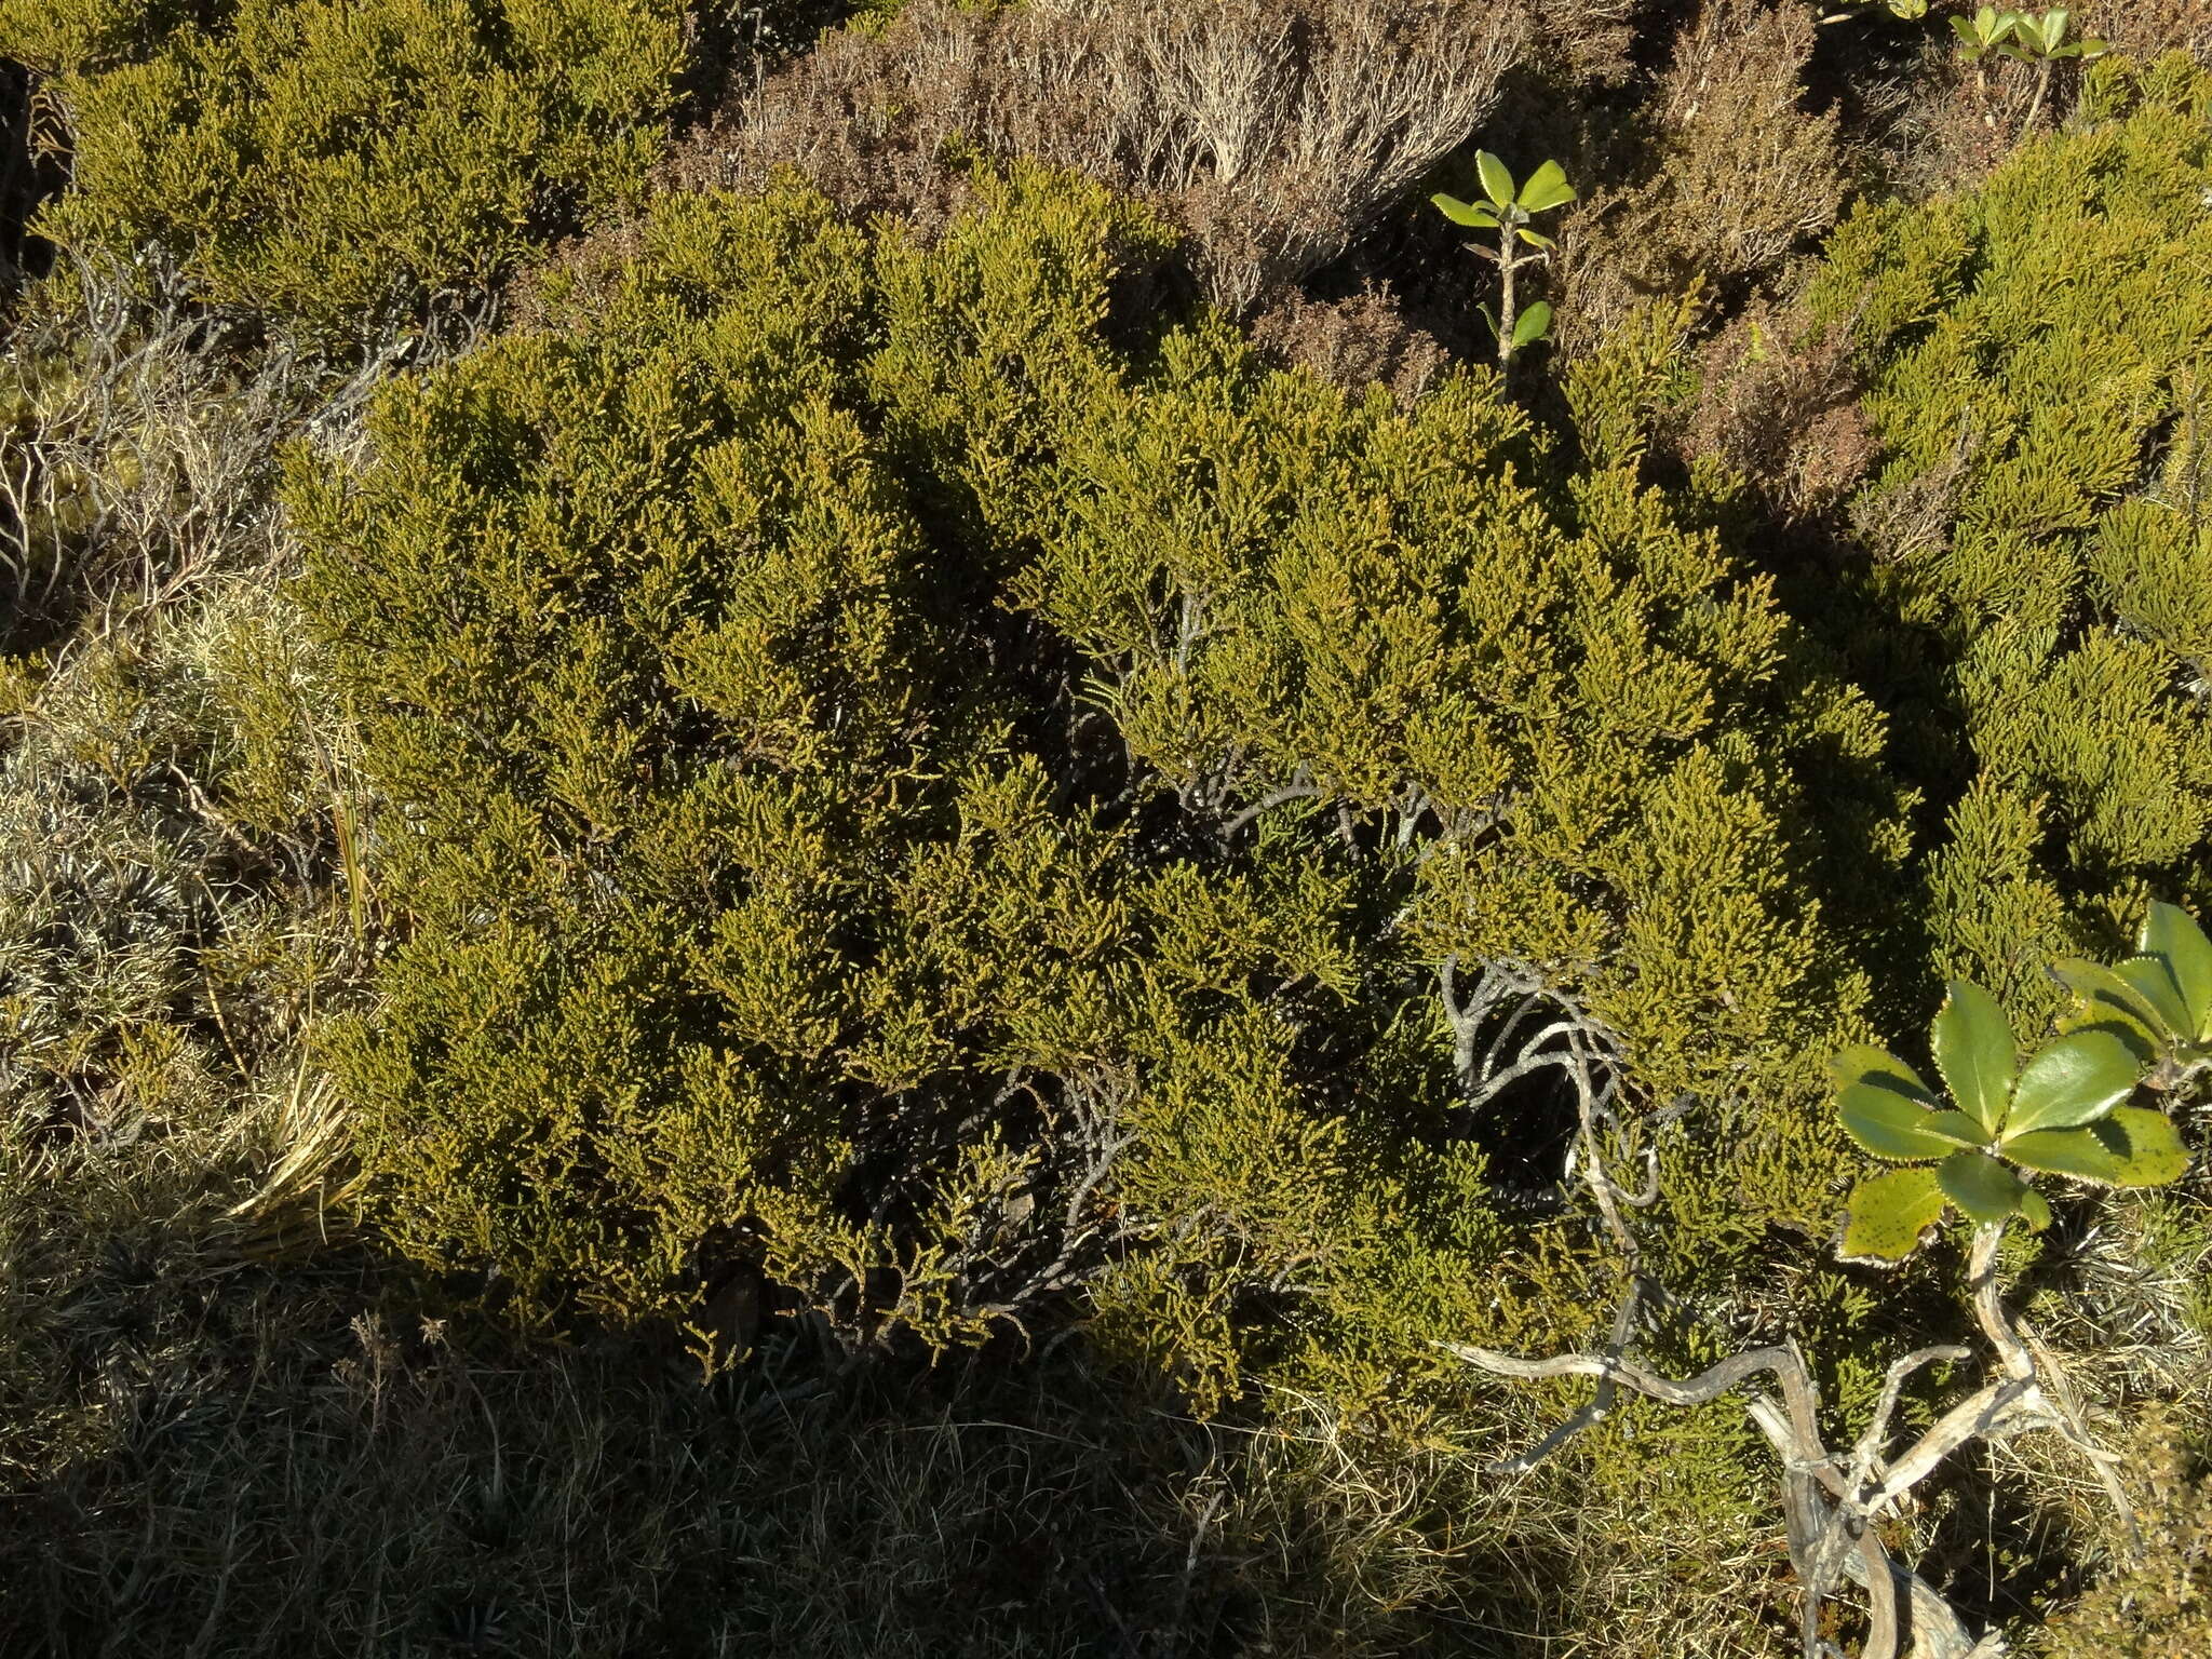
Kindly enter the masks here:
<path id="1" fill-rule="evenodd" d="M 1606 1279 L 1498 1190 L 1447 953 L 1584 993 L 1630 1117 L 1710 1099 L 1652 1141 L 1683 1283 L 1825 1228 L 1860 989 L 1798 768 L 1880 726 L 1639 482 L 1666 332 L 1564 442 L 1486 374 L 1130 356 L 1157 226 L 978 204 L 922 248 L 668 201 L 296 473 L 405 936 L 338 1042 L 389 1237 L 940 1343 L 1082 1287 L 1201 1405 L 1495 1420 L 1431 1338 L 1579 1340 Z"/>

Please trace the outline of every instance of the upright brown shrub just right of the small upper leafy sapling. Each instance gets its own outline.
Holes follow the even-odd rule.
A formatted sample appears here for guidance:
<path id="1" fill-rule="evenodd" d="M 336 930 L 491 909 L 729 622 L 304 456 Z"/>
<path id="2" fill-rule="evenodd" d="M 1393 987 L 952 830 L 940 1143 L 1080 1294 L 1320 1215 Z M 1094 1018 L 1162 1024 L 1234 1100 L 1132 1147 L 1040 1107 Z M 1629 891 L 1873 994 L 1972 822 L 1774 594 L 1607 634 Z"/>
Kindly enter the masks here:
<path id="1" fill-rule="evenodd" d="M 1765 276 L 1836 221 L 1836 115 L 1801 108 L 1816 29 L 1772 0 L 1697 13 L 1646 108 L 1644 166 L 1562 232 L 1562 349 L 1588 349 L 1650 294 Z"/>

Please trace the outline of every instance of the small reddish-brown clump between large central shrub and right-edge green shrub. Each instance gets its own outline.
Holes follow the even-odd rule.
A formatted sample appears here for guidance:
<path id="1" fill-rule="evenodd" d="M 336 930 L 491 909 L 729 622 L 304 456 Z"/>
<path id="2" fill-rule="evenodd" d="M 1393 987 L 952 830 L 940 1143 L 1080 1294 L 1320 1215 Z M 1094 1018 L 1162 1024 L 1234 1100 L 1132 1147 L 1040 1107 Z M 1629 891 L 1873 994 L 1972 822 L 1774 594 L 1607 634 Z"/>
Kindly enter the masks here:
<path id="1" fill-rule="evenodd" d="M 1781 513 L 1832 509 L 1876 453 L 1849 332 L 1814 330 L 1770 299 L 1754 301 L 1703 345 L 1679 442 L 1743 473 Z"/>

